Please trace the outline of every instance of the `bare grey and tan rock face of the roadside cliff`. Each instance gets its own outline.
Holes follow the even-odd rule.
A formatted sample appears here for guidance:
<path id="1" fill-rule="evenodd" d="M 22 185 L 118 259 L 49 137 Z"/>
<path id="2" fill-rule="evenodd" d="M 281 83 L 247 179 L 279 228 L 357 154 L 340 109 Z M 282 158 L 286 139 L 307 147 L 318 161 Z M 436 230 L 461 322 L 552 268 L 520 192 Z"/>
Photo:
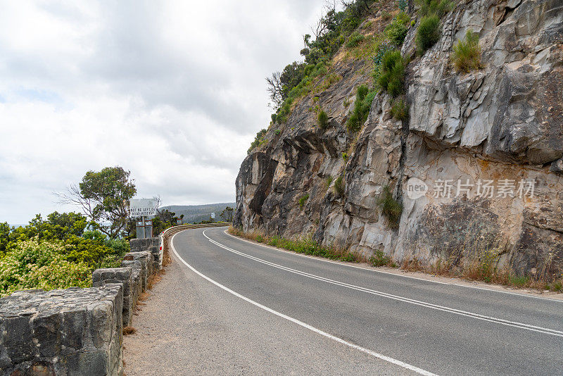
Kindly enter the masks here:
<path id="1" fill-rule="evenodd" d="M 450 54 L 468 29 L 479 33 L 482 68 L 461 74 Z M 395 120 L 379 93 L 359 134 L 348 133 L 355 88 L 369 70 L 336 56 L 342 79 L 299 101 L 243 161 L 235 225 L 312 234 L 366 255 L 384 250 L 396 261 L 458 263 L 490 252 L 519 274 L 563 272 L 562 1 L 460 1 L 422 57 L 415 30 L 402 49 L 413 58 L 410 120 Z M 317 102 L 327 130 L 311 111 Z M 334 189 L 339 176 L 343 194 Z M 422 197 L 409 194 L 413 178 L 428 188 Z M 378 205 L 385 186 L 403 204 L 398 228 Z"/>

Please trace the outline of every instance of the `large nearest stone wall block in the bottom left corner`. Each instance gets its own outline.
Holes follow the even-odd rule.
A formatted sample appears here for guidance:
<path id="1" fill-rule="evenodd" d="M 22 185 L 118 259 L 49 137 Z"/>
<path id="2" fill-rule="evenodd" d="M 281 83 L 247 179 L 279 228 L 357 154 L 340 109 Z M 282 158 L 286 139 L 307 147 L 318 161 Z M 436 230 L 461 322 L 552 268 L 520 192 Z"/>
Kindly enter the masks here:
<path id="1" fill-rule="evenodd" d="M 1 375 L 122 375 L 122 286 L 0 299 Z"/>

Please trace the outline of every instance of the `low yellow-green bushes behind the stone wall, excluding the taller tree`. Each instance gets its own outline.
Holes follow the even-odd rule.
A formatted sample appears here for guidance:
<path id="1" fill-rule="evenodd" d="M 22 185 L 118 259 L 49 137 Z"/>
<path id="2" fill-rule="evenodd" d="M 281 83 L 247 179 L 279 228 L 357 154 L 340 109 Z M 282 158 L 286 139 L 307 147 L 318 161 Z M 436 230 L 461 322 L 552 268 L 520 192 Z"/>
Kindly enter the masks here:
<path id="1" fill-rule="evenodd" d="M 80 213 L 57 212 L 46 219 L 37 215 L 25 227 L 0 223 L 0 296 L 23 289 L 90 287 L 95 269 L 118 267 L 129 242 L 87 225 Z"/>

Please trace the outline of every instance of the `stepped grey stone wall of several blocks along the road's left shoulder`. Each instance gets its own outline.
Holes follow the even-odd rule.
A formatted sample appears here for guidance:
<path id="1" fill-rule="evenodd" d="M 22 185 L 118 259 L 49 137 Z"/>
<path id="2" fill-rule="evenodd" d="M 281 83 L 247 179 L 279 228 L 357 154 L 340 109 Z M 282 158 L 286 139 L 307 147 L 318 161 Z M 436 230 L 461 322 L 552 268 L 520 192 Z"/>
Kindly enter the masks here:
<path id="1" fill-rule="evenodd" d="M 160 238 L 134 239 L 121 268 L 89 289 L 27 290 L 0 299 L 0 375 L 122 375 L 122 329 L 162 265 Z"/>

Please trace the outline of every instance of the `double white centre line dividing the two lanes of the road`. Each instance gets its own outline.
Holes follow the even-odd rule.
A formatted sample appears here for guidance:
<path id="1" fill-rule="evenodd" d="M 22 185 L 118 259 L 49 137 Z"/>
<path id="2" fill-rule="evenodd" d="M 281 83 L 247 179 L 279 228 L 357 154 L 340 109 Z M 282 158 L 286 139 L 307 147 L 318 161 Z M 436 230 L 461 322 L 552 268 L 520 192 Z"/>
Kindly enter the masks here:
<path id="1" fill-rule="evenodd" d="M 346 282 L 331 280 L 329 278 L 321 277 L 319 275 L 314 275 L 314 274 L 310 274 L 308 272 L 303 272 L 301 270 L 288 268 L 284 265 L 271 263 L 270 261 L 265 261 L 265 260 L 262 260 L 261 258 L 257 258 L 255 256 L 250 256 L 250 255 L 243 253 L 241 251 L 236 251 L 235 249 L 229 248 L 228 246 L 225 246 L 224 244 L 220 244 L 218 242 L 215 242 L 215 240 L 210 239 L 210 237 L 208 237 L 207 234 L 205 234 L 205 231 L 207 231 L 207 230 L 204 230 L 202 232 L 204 237 L 206 237 L 211 243 L 213 243 L 217 246 L 220 246 L 221 248 L 226 249 L 227 251 L 239 254 L 240 256 L 243 256 L 243 257 L 246 257 L 246 258 L 251 258 L 254 261 L 258 261 L 259 263 L 270 265 L 274 268 L 278 268 L 278 269 L 281 269 L 281 270 L 286 270 L 286 271 L 292 272 L 294 274 L 303 275 L 304 277 L 309 277 L 309 278 L 312 278 L 314 280 L 320 280 L 320 281 L 327 282 L 327 283 L 330 283 L 330 284 L 336 284 L 336 285 L 339 285 L 341 287 L 347 287 L 349 289 L 354 289 L 354 290 L 361 291 L 361 292 L 367 292 L 368 294 L 382 296 L 382 297 L 397 300 L 397 301 L 403 301 L 405 303 L 411 303 L 411 304 L 415 304 L 417 306 L 432 308 L 432 309 L 435 309 L 435 310 L 438 310 L 438 311 L 455 313 L 456 315 L 462 315 L 462 316 L 466 316 L 466 317 L 469 317 L 469 318 L 476 318 L 478 320 L 493 322 L 493 323 L 506 325 L 506 326 L 510 326 L 510 327 L 518 327 L 518 328 L 524 329 L 524 330 L 531 330 L 532 332 L 539 332 L 539 333 L 543 333 L 543 334 L 550 334 L 550 335 L 557 336 L 557 337 L 563 337 L 563 332 L 559 331 L 559 330 L 549 329 L 549 328 L 546 328 L 546 327 L 538 327 L 536 325 L 524 324 L 523 322 L 515 322 L 515 321 L 510 321 L 510 320 L 504 320 L 502 318 L 495 318 L 495 317 L 492 317 L 492 316 L 480 315 L 479 313 L 462 311 L 462 310 L 459 310 L 457 308 L 439 306 L 438 304 L 428 303 L 426 301 L 418 301 L 418 300 L 415 300 L 415 299 L 406 298 L 405 296 L 388 294 L 386 292 L 379 292 L 377 290 L 367 289 L 366 287 L 360 287 L 360 286 L 356 286 L 354 284 L 348 284 Z"/>

